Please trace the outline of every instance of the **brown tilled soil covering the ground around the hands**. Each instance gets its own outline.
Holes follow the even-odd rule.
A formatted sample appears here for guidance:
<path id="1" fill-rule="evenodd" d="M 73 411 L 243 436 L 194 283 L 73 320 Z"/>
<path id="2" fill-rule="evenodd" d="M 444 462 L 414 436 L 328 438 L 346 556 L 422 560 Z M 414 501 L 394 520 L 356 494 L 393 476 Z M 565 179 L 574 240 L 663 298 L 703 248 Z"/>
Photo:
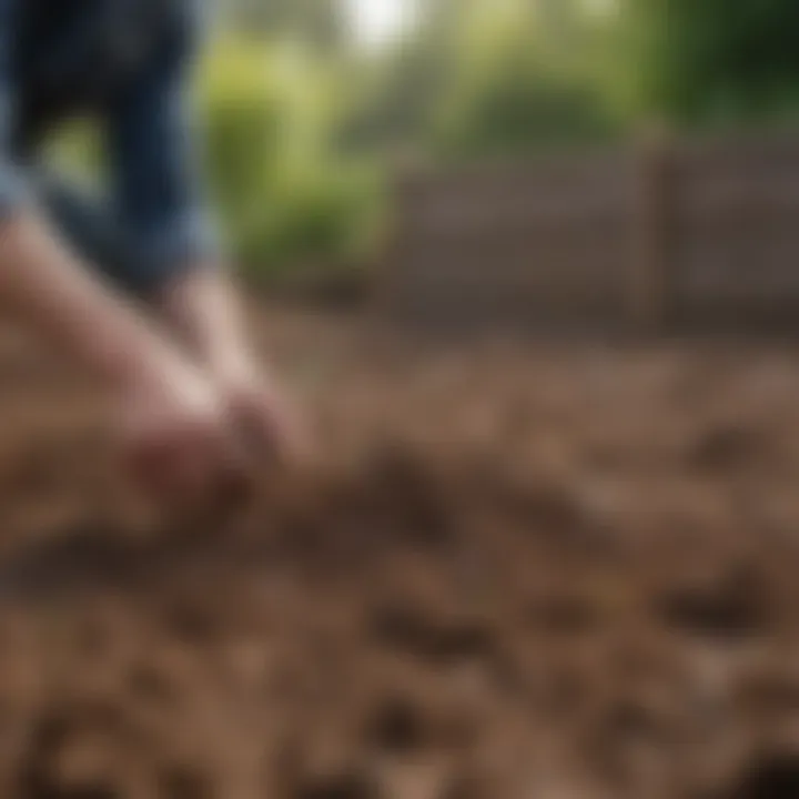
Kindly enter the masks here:
<path id="1" fill-rule="evenodd" d="M 154 527 L 3 334 L 1 797 L 799 797 L 799 353 L 265 327 L 318 463 Z"/>

